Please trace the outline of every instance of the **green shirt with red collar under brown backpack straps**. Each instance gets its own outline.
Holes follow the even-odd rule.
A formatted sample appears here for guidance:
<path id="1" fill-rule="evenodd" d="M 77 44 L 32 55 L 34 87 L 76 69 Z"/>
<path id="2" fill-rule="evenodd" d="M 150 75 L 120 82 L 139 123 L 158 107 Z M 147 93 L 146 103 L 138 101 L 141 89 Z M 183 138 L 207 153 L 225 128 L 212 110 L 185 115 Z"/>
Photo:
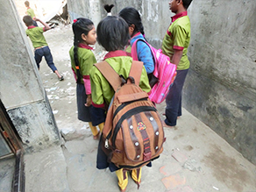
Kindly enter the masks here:
<path id="1" fill-rule="evenodd" d="M 113 53 L 117 52 L 120 53 L 123 51 L 116 51 Z M 124 54 L 120 54 L 120 56 L 109 57 L 105 60 L 110 63 L 110 66 L 117 72 L 117 74 L 124 75 L 124 78 L 127 78 L 132 67 L 132 57 L 124 56 Z M 93 105 L 96 107 L 103 107 L 104 103 L 109 105 L 115 91 L 95 66 L 90 71 L 90 85 Z M 145 67 L 142 69 L 139 87 L 147 93 L 151 90 Z"/>

